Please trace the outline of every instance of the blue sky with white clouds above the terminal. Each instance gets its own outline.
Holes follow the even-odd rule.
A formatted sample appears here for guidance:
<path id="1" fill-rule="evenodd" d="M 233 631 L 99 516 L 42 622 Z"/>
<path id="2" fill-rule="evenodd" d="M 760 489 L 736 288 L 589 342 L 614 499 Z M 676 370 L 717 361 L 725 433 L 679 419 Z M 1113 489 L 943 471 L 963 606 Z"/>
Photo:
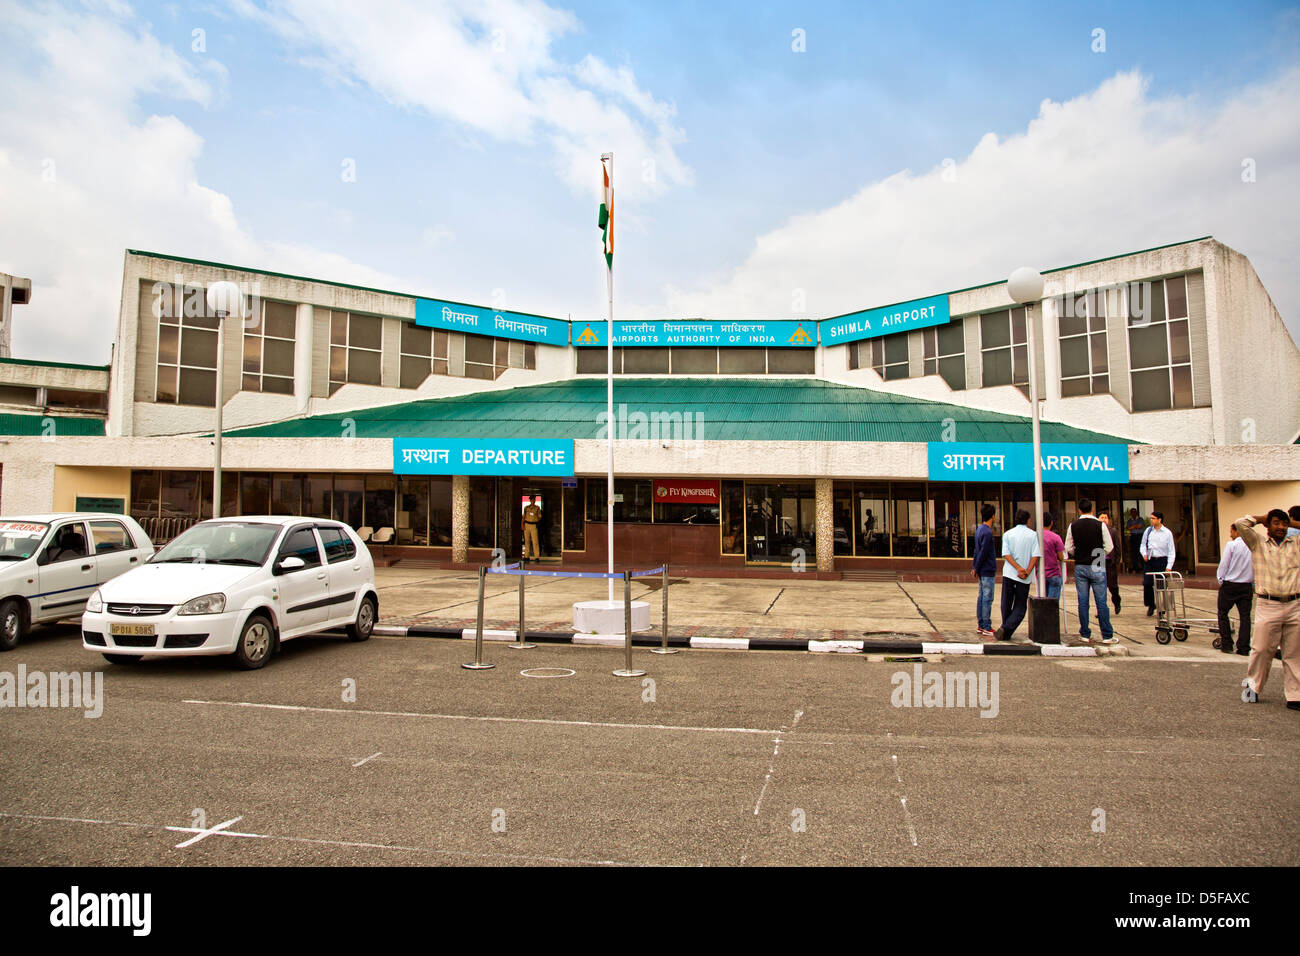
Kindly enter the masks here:
<path id="1" fill-rule="evenodd" d="M 105 1 L 0 38 L 20 355 L 107 360 L 125 247 L 599 317 L 601 148 L 623 317 L 796 289 L 816 317 L 1214 234 L 1297 329 L 1296 5 Z"/>

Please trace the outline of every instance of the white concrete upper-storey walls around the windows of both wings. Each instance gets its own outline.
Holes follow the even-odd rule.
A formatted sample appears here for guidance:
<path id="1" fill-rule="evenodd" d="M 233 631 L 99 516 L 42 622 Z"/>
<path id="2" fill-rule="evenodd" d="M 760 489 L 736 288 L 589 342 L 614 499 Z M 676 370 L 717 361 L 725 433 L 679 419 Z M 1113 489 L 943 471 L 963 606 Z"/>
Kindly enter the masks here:
<path id="1" fill-rule="evenodd" d="M 1112 393 L 1062 397 L 1060 354 L 1046 345 L 1056 343 L 1058 336 L 1053 298 L 1106 287 L 1115 287 L 1119 290 L 1117 295 L 1123 295 L 1130 284 L 1176 276 L 1188 277 L 1195 407 L 1130 410 L 1126 399 L 1128 336 L 1122 320 L 1118 324 L 1113 320 L 1108 329 L 1110 373 L 1115 378 Z M 1206 238 L 1054 269 L 1044 277 L 1044 302 L 1035 308 L 1044 419 L 1154 444 L 1284 444 L 1300 432 L 1300 350 L 1245 256 Z M 536 368 L 510 368 L 495 381 L 430 375 L 417 389 L 399 389 L 389 386 L 386 378 L 384 386 L 351 384 L 322 397 L 312 393 L 312 382 L 313 375 L 320 372 L 318 363 L 328 362 L 329 349 L 313 341 L 313 336 L 320 334 L 320 323 L 313 321 L 315 310 L 347 310 L 413 321 L 415 297 L 127 252 L 114 349 L 117 360 L 112 372 L 109 434 L 192 434 L 211 428 L 211 407 L 139 401 L 142 377 L 153 372 L 152 368 L 138 368 L 135 358 L 150 354 L 148 349 L 143 352 L 139 349 L 142 308 L 148 304 L 142 300 L 144 286 L 204 287 L 217 280 L 234 281 L 263 299 L 298 304 L 294 394 L 234 392 L 225 408 L 228 428 L 575 377 L 575 349 L 537 345 Z M 983 312 L 1011 304 L 1001 282 L 949 294 L 949 311 L 954 317 L 978 320 Z M 386 328 L 385 334 L 396 334 L 394 330 L 399 330 L 395 323 Z M 904 334 L 919 336 L 918 332 Z M 240 352 L 237 345 L 228 345 L 224 350 L 228 389 L 239 380 Z M 385 349 L 390 347 L 395 346 L 386 342 Z M 885 382 L 870 368 L 850 371 L 850 347 L 819 346 L 818 377 L 1013 415 L 1030 414 L 1028 398 L 1015 386 L 979 388 L 978 382 L 968 381 L 966 389 L 953 390 L 939 375 L 920 376 L 919 355 L 913 356 L 918 363 L 918 377 Z M 913 343 L 914 351 L 916 347 Z M 970 377 L 979 375 L 978 349 L 978 333 L 967 333 Z M 975 354 L 971 354 L 972 350 Z M 1261 378 L 1271 382 L 1271 401 L 1266 403 L 1257 401 Z"/>

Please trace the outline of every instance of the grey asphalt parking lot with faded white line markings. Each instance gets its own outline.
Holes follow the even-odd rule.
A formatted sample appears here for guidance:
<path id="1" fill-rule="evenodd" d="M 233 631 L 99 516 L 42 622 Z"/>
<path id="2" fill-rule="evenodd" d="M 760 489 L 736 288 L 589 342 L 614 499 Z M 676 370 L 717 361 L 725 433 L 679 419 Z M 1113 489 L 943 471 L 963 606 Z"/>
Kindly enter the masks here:
<path id="1" fill-rule="evenodd" d="M 0 670 L 101 672 L 103 715 L 0 711 L 0 862 L 1300 864 L 1278 665 L 1245 705 L 1223 656 L 928 658 L 996 674 L 980 717 L 894 706 L 915 665 L 879 656 L 471 650 L 120 667 L 36 632 Z"/>

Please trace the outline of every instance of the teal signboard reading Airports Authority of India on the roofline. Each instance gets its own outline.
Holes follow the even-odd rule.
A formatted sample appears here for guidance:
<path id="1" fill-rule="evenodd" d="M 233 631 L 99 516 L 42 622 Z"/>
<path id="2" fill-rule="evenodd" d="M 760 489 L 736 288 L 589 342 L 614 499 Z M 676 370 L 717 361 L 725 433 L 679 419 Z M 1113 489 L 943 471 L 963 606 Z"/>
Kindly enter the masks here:
<path id="1" fill-rule="evenodd" d="M 573 323 L 573 345 L 604 349 L 608 323 Z M 816 347 L 815 321 L 664 319 L 644 323 L 614 323 L 614 345 L 619 349 L 667 349 L 682 346 L 723 346 L 768 349 Z"/>

